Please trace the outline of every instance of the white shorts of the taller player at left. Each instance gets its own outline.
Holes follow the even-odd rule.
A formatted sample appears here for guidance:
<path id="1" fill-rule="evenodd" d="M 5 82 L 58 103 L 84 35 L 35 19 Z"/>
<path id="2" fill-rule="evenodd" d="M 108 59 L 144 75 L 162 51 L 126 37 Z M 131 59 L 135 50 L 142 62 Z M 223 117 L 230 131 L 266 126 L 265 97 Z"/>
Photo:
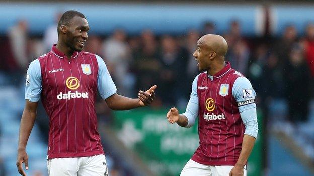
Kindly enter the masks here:
<path id="1" fill-rule="evenodd" d="M 47 160 L 49 176 L 104 176 L 108 175 L 103 154 L 88 157 L 54 158 Z"/>

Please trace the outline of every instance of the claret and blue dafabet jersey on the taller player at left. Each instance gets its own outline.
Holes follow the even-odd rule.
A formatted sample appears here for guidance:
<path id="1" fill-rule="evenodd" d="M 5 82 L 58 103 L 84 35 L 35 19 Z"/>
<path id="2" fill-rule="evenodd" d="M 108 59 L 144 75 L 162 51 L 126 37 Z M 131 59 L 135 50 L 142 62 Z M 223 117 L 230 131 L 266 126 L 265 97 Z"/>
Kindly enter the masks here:
<path id="1" fill-rule="evenodd" d="M 49 116 L 49 159 L 104 154 L 97 131 L 97 91 L 106 99 L 117 89 L 95 54 L 74 52 L 69 62 L 54 45 L 30 64 L 25 99 L 41 98 Z"/>

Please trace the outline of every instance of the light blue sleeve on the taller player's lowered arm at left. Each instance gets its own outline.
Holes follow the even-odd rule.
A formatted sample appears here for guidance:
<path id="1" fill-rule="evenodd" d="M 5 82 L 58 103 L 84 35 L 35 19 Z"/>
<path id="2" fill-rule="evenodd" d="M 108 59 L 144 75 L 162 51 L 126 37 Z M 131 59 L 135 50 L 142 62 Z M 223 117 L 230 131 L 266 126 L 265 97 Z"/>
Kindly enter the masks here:
<path id="1" fill-rule="evenodd" d="M 41 69 L 39 60 L 30 63 L 25 82 L 25 99 L 30 102 L 38 102 L 42 90 Z"/>

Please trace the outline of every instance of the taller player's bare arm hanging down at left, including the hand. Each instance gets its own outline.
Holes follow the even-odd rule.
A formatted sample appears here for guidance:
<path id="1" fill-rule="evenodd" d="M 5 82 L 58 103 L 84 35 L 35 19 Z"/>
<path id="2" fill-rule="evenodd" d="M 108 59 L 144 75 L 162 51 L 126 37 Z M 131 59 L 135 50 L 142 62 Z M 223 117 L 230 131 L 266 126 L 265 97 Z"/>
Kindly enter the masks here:
<path id="1" fill-rule="evenodd" d="M 30 102 L 29 100 L 26 100 L 23 115 L 21 118 L 18 143 L 18 157 L 16 163 L 18 171 L 21 175 L 26 175 L 23 170 L 22 163 L 25 164 L 25 168 L 26 170 L 28 170 L 28 156 L 25 148 L 35 123 L 37 106 L 38 102 Z"/>

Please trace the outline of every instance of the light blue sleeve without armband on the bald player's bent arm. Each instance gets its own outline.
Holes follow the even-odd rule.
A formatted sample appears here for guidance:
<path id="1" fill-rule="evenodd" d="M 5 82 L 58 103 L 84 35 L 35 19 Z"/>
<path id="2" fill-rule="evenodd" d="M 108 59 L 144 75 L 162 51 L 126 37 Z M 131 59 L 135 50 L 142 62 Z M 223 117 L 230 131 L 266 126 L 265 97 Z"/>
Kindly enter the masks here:
<path id="1" fill-rule="evenodd" d="M 186 128 L 190 128 L 195 124 L 195 119 L 198 116 L 198 96 L 197 96 L 197 75 L 192 83 L 192 92 L 190 96 L 190 100 L 188 102 L 185 115 L 188 118 L 188 124 L 185 126 Z"/>

